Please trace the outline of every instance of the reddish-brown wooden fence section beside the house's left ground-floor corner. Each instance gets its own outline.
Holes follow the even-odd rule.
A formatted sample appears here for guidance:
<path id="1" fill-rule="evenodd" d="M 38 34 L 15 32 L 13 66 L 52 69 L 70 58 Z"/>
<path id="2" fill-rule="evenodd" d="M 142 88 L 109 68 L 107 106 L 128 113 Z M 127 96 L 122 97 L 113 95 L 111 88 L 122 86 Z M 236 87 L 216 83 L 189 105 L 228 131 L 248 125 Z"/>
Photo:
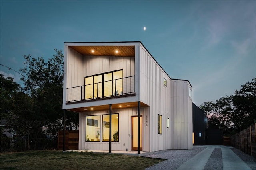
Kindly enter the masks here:
<path id="1" fill-rule="evenodd" d="M 79 130 L 65 130 L 65 150 L 78 150 Z M 63 149 L 63 131 L 58 131 L 58 149 Z"/>

